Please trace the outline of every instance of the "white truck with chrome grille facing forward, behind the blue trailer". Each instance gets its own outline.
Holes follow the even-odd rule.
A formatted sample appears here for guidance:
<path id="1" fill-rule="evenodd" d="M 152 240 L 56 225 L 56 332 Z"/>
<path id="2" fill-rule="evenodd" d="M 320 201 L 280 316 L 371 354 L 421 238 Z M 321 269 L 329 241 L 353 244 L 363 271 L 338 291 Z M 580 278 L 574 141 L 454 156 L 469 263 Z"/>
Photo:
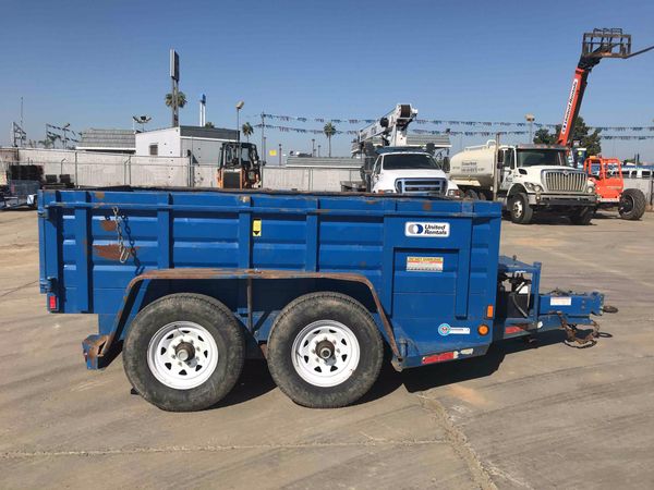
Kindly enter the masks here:
<path id="1" fill-rule="evenodd" d="M 461 196 L 434 157 L 415 148 L 384 148 L 370 179 L 370 189 L 376 194 Z"/>

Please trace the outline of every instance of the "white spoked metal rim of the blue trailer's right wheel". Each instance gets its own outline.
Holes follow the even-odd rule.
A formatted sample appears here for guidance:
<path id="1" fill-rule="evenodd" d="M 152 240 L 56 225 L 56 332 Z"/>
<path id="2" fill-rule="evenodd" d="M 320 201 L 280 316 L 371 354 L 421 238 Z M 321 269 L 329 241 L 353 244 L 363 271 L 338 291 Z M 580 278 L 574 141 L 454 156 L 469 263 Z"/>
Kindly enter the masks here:
<path id="1" fill-rule="evenodd" d="M 359 341 L 352 330 L 335 320 L 318 320 L 304 327 L 291 351 L 298 375 L 322 388 L 348 380 L 359 366 L 360 355 Z"/>

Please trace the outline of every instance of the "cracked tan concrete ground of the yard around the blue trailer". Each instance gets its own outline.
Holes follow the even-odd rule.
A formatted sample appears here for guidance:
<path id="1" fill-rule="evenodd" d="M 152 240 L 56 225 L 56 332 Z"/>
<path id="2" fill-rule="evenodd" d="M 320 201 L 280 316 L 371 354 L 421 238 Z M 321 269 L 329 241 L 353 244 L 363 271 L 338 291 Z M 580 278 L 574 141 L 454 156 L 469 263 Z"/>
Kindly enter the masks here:
<path id="1" fill-rule="evenodd" d="M 215 408 L 161 412 L 120 359 L 87 371 L 94 317 L 48 315 L 34 211 L 0 213 L 0 487 L 653 488 L 654 216 L 502 223 L 544 287 L 598 290 L 619 314 L 588 350 L 517 340 L 396 373 L 362 403 L 294 405 L 262 363 Z"/>

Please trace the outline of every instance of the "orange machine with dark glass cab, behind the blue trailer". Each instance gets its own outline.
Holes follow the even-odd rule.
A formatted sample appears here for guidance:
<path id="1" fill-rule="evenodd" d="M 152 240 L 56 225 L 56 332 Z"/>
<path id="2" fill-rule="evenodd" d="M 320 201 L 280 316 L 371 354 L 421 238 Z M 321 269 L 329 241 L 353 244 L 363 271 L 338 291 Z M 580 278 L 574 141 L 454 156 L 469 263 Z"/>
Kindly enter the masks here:
<path id="1" fill-rule="evenodd" d="M 262 162 L 253 143 L 229 142 L 220 148 L 218 188 L 259 188 Z"/>

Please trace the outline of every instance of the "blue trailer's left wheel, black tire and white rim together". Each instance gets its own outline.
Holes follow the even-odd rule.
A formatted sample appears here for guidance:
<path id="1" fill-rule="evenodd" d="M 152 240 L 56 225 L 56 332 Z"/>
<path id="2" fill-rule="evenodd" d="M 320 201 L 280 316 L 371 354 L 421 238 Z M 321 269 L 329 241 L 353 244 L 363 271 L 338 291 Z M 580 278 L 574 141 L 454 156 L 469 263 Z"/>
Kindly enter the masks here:
<path id="1" fill-rule="evenodd" d="M 243 368 L 242 327 L 222 303 L 171 294 L 136 315 L 123 347 L 125 373 L 148 402 L 194 412 L 219 402 Z"/>

